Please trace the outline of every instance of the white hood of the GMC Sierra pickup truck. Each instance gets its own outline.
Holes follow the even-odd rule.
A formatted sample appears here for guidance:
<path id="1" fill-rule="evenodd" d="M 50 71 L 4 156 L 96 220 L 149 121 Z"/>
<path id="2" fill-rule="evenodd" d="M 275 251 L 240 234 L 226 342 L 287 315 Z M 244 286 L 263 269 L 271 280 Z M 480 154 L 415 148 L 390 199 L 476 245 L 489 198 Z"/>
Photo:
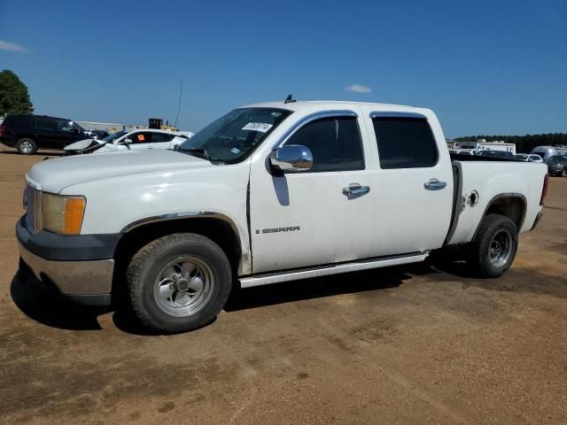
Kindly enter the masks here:
<path id="1" fill-rule="evenodd" d="M 109 152 L 105 155 L 77 155 L 39 162 L 27 172 L 26 180 L 34 189 L 58 193 L 67 186 L 120 175 L 203 166 L 212 165 L 205 159 L 176 151 L 147 149 Z"/>

